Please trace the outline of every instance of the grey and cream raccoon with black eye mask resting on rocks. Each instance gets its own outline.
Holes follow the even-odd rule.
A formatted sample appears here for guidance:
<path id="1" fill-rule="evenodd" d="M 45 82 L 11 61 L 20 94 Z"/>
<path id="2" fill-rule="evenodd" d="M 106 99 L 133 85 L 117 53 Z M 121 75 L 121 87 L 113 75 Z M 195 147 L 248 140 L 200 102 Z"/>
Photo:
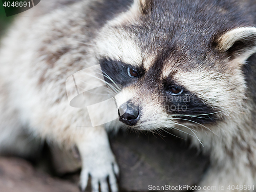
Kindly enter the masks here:
<path id="1" fill-rule="evenodd" d="M 254 0 L 41 1 L 1 41 L 1 152 L 29 156 L 34 137 L 76 145 L 81 189 L 90 175 L 92 191 L 115 192 L 107 131 L 168 129 L 209 154 L 201 190 L 252 191 L 255 52 Z M 118 119 L 90 127 L 87 109 L 70 106 L 66 80 L 95 65 L 118 90 Z M 104 119 L 110 106 L 99 107 Z"/>

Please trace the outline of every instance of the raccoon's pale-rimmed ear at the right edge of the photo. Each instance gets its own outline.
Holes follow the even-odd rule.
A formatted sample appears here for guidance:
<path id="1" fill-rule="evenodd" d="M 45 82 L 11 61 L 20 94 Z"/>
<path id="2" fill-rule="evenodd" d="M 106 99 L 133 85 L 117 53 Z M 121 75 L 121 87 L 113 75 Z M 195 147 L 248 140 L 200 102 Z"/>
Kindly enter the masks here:
<path id="1" fill-rule="evenodd" d="M 230 60 L 244 63 L 256 52 L 256 28 L 241 27 L 226 32 L 217 40 L 217 49 L 227 53 Z"/>

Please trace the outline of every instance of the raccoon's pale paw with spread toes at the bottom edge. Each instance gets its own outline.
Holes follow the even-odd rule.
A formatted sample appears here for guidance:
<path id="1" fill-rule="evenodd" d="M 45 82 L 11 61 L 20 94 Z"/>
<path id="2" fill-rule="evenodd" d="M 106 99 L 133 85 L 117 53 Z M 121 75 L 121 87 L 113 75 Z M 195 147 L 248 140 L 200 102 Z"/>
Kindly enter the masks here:
<path id="1" fill-rule="evenodd" d="M 85 166 L 80 175 L 80 189 L 84 191 L 87 187 L 89 175 L 91 177 L 92 192 L 98 192 L 99 186 L 101 192 L 108 192 L 109 186 L 112 192 L 118 192 L 116 177 L 119 176 L 119 167 L 115 158 L 111 161 L 100 160 L 93 163 L 94 166 Z M 109 184 L 109 185 L 108 185 Z"/>

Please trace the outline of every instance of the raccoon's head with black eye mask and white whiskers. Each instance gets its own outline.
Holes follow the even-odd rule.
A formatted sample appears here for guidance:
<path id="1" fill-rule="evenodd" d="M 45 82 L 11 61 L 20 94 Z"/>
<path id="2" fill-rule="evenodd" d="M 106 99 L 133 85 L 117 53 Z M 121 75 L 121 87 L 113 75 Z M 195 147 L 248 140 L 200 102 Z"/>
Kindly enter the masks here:
<path id="1" fill-rule="evenodd" d="M 122 123 L 211 129 L 242 113 L 241 67 L 256 52 L 256 28 L 236 15 L 243 10 L 221 6 L 136 0 L 103 27 L 95 52 L 106 81 L 123 87 L 116 96 Z"/>

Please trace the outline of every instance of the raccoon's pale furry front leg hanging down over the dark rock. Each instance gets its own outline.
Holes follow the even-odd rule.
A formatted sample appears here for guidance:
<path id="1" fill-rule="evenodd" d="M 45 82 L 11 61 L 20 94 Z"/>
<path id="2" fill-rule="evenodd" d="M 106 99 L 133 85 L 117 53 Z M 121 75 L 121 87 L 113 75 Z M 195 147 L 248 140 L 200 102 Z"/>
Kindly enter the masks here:
<path id="1" fill-rule="evenodd" d="M 108 179 L 112 192 L 118 191 L 116 176 L 119 168 L 111 151 L 108 135 L 104 127 L 89 128 L 86 138 L 77 141 L 77 147 L 82 160 L 80 187 L 85 190 L 89 175 L 92 191 L 108 192 Z"/>

